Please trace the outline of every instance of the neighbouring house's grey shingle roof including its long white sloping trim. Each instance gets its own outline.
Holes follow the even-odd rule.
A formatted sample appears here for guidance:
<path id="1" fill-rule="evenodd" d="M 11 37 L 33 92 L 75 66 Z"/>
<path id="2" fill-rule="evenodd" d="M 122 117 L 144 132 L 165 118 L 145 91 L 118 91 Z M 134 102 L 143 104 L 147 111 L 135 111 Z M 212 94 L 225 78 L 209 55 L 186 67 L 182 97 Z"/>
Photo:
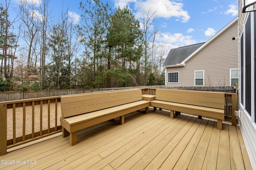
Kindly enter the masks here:
<path id="1" fill-rule="evenodd" d="M 196 53 L 198 53 L 201 49 L 203 49 L 206 45 L 208 45 L 214 39 L 216 39 L 216 37 L 218 37 L 221 33 L 223 33 L 226 29 L 228 29 L 236 21 L 238 21 L 238 17 L 236 17 L 234 20 L 232 20 L 230 23 L 228 23 L 228 25 L 223 27 L 220 31 L 218 31 L 218 33 L 213 35 L 205 43 L 199 43 L 199 44 L 194 44 L 194 45 L 188 45 L 185 47 L 179 47 L 177 49 L 171 49 L 168 56 L 166 57 L 166 59 L 164 61 L 163 66 L 164 67 L 185 66 L 186 61 L 188 61 L 191 57 L 196 55 Z M 194 46 L 194 47 L 190 47 L 190 46 Z M 196 49 L 196 47 L 197 47 L 197 49 Z M 191 49 L 189 49 L 189 48 L 191 48 Z M 194 51 L 192 50 L 193 48 L 195 49 Z M 174 52 L 174 54 L 170 54 L 171 52 Z M 175 53 L 176 53 L 176 55 L 175 55 Z"/>

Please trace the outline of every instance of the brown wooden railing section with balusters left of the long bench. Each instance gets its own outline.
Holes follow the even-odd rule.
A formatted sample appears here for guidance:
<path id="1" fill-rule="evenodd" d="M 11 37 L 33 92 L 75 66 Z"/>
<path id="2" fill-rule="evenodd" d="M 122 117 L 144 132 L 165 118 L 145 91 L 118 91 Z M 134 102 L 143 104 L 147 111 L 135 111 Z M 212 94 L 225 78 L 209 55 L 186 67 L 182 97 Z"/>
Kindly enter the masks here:
<path id="1" fill-rule="evenodd" d="M 0 102 L 0 155 L 6 154 L 7 149 L 60 132 L 61 126 L 58 125 L 60 117 L 57 116 L 58 102 L 60 102 L 60 96 Z M 54 103 L 54 110 L 50 109 L 51 103 Z M 17 113 L 19 107 L 22 109 Z M 28 107 L 30 107 L 30 113 L 26 110 Z M 27 119 L 28 115 L 30 119 Z M 35 115 L 39 116 L 35 117 Z M 47 119 L 43 119 L 46 117 Z M 21 122 L 20 119 L 22 119 Z M 51 125 L 51 121 L 54 125 Z M 43 129 L 43 125 L 47 128 Z M 21 136 L 16 136 L 17 129 L 22 129 Z M 35 132 L 35 129 L 39 131 Z M 10 137 L 7 137 L 7 134 L 9 135 L 7 130 L 12 131 L 12 139 L 8 139 Z M 26 131 L 31 133 L 27 134 Z"/>

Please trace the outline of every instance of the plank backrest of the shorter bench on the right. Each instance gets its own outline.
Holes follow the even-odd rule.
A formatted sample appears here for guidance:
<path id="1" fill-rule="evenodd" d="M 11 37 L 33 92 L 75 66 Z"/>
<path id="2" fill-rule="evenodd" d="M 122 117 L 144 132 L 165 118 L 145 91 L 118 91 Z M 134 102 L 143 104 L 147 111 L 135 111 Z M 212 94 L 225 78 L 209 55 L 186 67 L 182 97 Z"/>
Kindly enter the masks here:
<path id="1" fill-rule="evenodd" d="M 225 93 L 156 89 L 155 100 L 224 109 Z"/>

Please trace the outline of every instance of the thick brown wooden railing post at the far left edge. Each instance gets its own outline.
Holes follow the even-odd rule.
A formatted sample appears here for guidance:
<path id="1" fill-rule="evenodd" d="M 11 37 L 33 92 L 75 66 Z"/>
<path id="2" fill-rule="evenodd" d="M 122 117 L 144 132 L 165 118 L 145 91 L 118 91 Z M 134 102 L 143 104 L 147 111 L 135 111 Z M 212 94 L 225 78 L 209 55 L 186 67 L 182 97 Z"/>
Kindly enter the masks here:
<path id="1" fill-rule="evenodd" d="M 7 106 L 0 105 L 0 156 L 7 154 Z"/>

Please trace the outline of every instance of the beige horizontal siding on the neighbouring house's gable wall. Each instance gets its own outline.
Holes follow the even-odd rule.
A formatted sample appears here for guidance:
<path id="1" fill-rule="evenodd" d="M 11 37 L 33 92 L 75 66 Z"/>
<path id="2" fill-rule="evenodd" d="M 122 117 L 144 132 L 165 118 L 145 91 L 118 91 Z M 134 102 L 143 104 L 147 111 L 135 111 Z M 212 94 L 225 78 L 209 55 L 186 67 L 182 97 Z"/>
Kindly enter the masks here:
<path id="1" fill-rule="evenodd" d="M 167 86 L 194 86 L 194 72 L 204 70 L 204 86 L 229 86 L 230 69 L 238 69 L 238 21 L 206 45 L 185 66 L 166 68 L 168 72 L 179 72 L 179 83 Z"/>

